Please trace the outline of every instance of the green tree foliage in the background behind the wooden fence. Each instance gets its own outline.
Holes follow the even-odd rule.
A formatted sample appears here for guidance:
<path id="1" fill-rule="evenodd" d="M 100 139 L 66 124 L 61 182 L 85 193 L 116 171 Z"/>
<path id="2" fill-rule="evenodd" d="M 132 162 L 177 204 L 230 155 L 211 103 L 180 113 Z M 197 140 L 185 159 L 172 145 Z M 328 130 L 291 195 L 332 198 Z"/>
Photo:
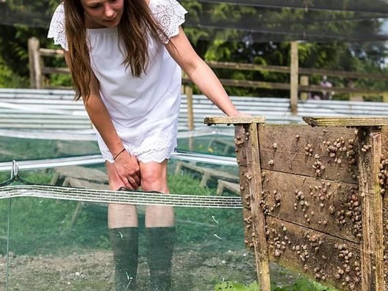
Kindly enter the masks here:
<path id="1" fill-rule="evenodd" d="M 246 5 L 232 5 L 229 3 L 208 3 L 195 0 L 182 0 L 184 7 L 189 11 L 191 21 L 199 21 L 207 18 L 211 23 L 228 22 L 238 23 L 245 19 L 258 21 L 259 30 L 308 34 L 346 36 L 357 31 L 377 32 L 382 22 L 379 20 L 344 21 L 352 19 L 356 15 L 348 11 L 314 11 L 307 8 L 313 6 L 313 1 L 306 1 L 304 9 L 256 9 Z M 347 1 L 344 2 L 346 7 Z M 47 26 L 48 20 L 58 0 L 30 1 L 25 4 L 23 0 L 7 0 L 7 7 L 11 13 L 18 17 L 29 15 L 33 25 Z M 28 13 L 25 10 L 28 7 Z M 24 9 L 24 10 L 23 10 Z M 36 17 L 39 15 L 39 17 Z M 310 20 L 310 21 L 309 21 Z M 314 20 L 322 20 L 315 22 Z M 341 20 L 341 21 L 336 21 Z M 39 22 L 41 21 L 41 22 Z M 30 23 L 28 20 L 25 23 Z M 32 23 L 32 22 L 31 22 Z M 31 24 L 30 23 L 30 24 Z M 308 26 L 306 26 L 308 23 Z M 52 40 L 47 40 L 47 29 L 27 27 L 23 25 L 0 26 L 0 86 L 1 87 L 26 87 L 28 86 L 28 53 L 27 40 L 35 36 L 41 42 L 41 47 L 54 47 Z M 289 65 L 288 42 L 244 42 L 245 31 L 236 29 L 215 29 L 204 27 L 184 27 L 185 33 L 194 45 L 197 53 L 207 61 L 220 62 L 244 62 L 267 65 Z M 324 68 L 330 70 L 347 70 L 358 72 L 387 73 L 384 65 L 386 60 L 386 48 L 383 42 L 344 43 L 344 42 L 301 42 L 299 51 L 300 66 L 308 68 Z M 63 59 L 46 58 L 47 66 L 63 67 Z M 227 69 L 215 69 L 216 74 L 223 79 L 289 82 L 289 75 L 265 71 L 232 71 Z M 319 84 L 321 76 L 310 76 L 310 84 Z M 334 86 L 345 87 L 352 81 L 355 87 L 377 90 L 388 89 L 385 81 L 371 80 L 345 80 L 332 78 L 330 82 Z M 55 86 L 69 86 L 71 79 L 66 75 L 51 75 L 49 83 Z M 277 96 L 286 97 L 287 91 L 267 90 L 261 88 L 226 87 L 229 95 L 242 96 Z M 195 89 L 195 93 L 200 93 Z M 347 95 L 334 96 L 336 99 L 346 99 Z M 381 97 L 369 97 L 369 100 L 381 99 Z"/>

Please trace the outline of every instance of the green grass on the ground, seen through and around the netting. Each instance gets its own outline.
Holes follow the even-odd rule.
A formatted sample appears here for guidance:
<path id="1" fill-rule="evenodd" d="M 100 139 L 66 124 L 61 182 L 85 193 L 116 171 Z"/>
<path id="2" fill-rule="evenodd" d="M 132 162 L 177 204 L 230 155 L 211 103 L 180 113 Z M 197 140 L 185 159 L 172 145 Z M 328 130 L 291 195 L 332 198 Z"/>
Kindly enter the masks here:
<path id="1" fill-rule="evenodd" d="M 85 145 L 58 141 L 23 140 L 21 143 L 18 141 L 20 140 L 1 138 L 0 160 L 51 158 L 98 151 L 93 143 Z M 208 145 L 208 138 L 196 138 L 195 140 L 195 149 L 198 151 L 204 153 L 223 152 L 222 146 Z M 180 141 L 180 148 L 188 149 L 187 140 Z M 18 155 L 14 155 L 14 153 L 18 153 Z M 215 195 L 214 183 L 210 183 L 209 187 L 201 188 L 198 179 L 194 176 L 173 175 L 172 170 L 173 168 L 170 167 L 168 175 L 171 193 Z M 20 174 L 29 182 L 48 184 L 53 171 L 40 170 Z M 0 182 L 8 178 L 9 173 L 0 173 Z M 6 235 L 8 202 L 8 200 L 0 200 L 0 237 Z M 74 251 L 81 254 L 95 249 L 109 249 L 106 206 L 85 204 L 76 225 L 70 228 L 70 221 L 76 207 L 77 202 L 73 201 L 43 198 L 12 199 L 10 250 L 17 255 L 63 256 Z M 175 216 L 178 234 L 177 246 L 187 251 L 203 253 L 205 256 L 202 257 L 202 260 L 204 261 L 211 260 L 217 254 L 225 254 L 228 250 L 241 251 L 245 248 L 240 209 L 175 208 Z M 140 215 L 140 223 L 144 227 L 143 214 Z M 142 253 L 145 242 L 143 234 L 141 234 L 140 241 L 140 252 Z M 5 242 L 5 240 L 0 239 L 0 254 L 5 254 Z M 243 258 L 241 259 L 243 260 Z M 198 264 L 202 263 L 198 262 Z M 222 270 L 220 267 L 218 268 Z M 232 276 L 230 279 L 236 278 Z M 215 278 L 215 280 L 217 279 Z M 96 289 L 98 286 L 101 287 L 100 283 L 96 284 Z M 272 291 L 332 291 L 332 289 L 308 279 L 301 279 L 282 287 L 277 286 L 277 282 L 272 282 L 272 284 Z M 86 290 L 90 289 L 91 286 L 80 280 L 75 281 L 73 287 L 76 287 L 75 290 Z M 259 289 L 254 283 L 244 285 L 223 282 L 218 284 L 214 290 L 256 291 Z"/>

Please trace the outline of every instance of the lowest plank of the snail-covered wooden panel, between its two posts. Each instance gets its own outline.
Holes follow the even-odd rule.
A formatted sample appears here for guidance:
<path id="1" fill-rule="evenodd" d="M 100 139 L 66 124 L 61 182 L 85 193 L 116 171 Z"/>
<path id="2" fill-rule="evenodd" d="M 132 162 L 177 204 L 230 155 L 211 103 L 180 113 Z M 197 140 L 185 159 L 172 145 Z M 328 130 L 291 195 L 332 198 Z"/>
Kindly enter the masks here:
<path id="1" fill-rule="evenodd" d="M 268 253 L 288 269 L 341 290 L 361 289 L 359 244 L 267 217 Z"/>

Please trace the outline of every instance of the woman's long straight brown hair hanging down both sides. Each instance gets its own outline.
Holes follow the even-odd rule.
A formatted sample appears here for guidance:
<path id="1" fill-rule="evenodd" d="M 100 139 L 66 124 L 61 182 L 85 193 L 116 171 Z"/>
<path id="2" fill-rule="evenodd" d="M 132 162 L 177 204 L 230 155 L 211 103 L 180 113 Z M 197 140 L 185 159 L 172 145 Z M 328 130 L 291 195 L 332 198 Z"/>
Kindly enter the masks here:
<path id="1" fill-rule="evenodd" d="M 75 100 L 87 100 L 90 95 L 91 67 L 86 38 L 85 15 L 81 0 L 63 0 L 65 33 L 68 43 L 67 65 L 69 66 L 76 92 Z M 126 50 L 123 64 L 130 67 L 134 77 L 140 77 L 148 64 L 148 39 L 167 38 L 162 28 L 151 15 L 145 0 L 124 0 L 123 16 L 118 24 L 119 40 Z"/>

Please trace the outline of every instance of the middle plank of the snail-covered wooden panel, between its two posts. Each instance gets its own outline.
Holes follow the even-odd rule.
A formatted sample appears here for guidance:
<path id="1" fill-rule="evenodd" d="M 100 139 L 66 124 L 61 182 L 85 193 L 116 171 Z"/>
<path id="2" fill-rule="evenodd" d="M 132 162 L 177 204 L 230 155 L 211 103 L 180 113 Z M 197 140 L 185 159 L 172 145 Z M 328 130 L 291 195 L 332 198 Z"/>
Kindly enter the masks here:
<path id="1" fill-rule="evenodd" d="M 263 174 L 267 214 L 360 242 L 361 197 L 357 185 L 268 170 Z"/>

